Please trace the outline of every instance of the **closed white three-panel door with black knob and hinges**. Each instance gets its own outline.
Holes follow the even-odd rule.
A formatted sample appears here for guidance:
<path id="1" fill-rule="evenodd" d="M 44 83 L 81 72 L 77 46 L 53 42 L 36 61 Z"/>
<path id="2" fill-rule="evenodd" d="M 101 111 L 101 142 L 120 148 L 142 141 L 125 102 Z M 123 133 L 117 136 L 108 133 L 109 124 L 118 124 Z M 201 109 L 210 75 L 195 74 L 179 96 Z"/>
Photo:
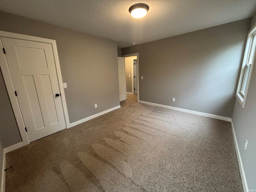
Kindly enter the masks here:
<path id="1" fill-rule="evenodd" d="M 1 40 L 30 142 L 65 129 L 52 45 Z"/>

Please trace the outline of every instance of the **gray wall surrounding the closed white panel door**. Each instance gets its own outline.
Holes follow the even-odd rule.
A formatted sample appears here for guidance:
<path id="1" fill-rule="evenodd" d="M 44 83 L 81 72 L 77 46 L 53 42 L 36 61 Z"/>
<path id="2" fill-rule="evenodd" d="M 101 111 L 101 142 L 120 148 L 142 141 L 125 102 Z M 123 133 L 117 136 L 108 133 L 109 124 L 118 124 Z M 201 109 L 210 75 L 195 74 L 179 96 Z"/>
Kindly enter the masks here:
<path id="1" fill-rule="evenodd" d="M 0 30 L 56 40 L 70 123 L 120 105 L 117 44 L 113 40 L 0 12 Z M 2 82 L 2 74 L 0 75 Z M 0 139 L 4 147 L 20 142 L 14 115 L 0 85 L 4 99 L 1 108 Z M 2 93 L 3 92 L 3 93 Z M 7 103 L 7 104 L 6 104 Z M 94 104 L 98 108 L 94 108 Z M 6 118 L 2 110 L 9 112 Z"/>

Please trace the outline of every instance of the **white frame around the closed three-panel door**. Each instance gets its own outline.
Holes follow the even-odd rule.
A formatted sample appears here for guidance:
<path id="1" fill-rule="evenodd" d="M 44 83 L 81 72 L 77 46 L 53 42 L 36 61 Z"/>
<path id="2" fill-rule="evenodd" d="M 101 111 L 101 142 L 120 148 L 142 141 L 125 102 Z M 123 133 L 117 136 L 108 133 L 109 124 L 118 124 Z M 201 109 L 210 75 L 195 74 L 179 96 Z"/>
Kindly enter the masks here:
<path id="1" fill-rule="evenodd" d="M 11 32 L 6 32 L 6 31 L 0 31 L 0 37 L 7 37 L 7 38 L 14 38 L 14 39 L 29 40 L 29 41 L 52 44 L 52 50 L 53 50 L 54 60 L 55 60 L 55 65 L 56 65 L 57 78 L 58 78 L 58 83 L 59 83 L 59 88 L 60 88 L 60 93 L 61 93 L 62 108 L 64 111 L 65 123 L 66 123 L 66 128 L 67 128 L 67 126 L 69 126 L 70 123 L 69 123 L 69 118 L 68 118 L 68 109 L 67 109 L 67 104 L 66 104 L 65 92 L 64 92 L 64 88 L 63 88 L 62 76 L 61 76 L 61 71 L 60 71 L 60 61 L 59 61 L 56 41 L 52 40 L 52 39 L 11 33 Z M 2 41 L 0 41 L 0 46 L 2 49 L 3 48 Z M 8 51 L 8 50 L 6 50 L 6 51 Z M 18 128 L 20 130 L 20 136 L 22 138 L 22 142 L 24 145 L 27 145 L 30 143 L 30 141 L 28 139 L 28 134 L 26 133 L 26 130 L 25 130 L 25 124 L 24 124 L 24 121 L 22 118 L 22 113 L 20 111 L 18 99 L 14 94 L 15 89 L 14 89 L 14 84 L 12 82 L 12 77 L 10 74 L 8 62 L 6 60 L 6 56 L 3 52 L 0 53 L 0 67 L 2 70 L 3 77 L 4 77 L 4 82 L 5 82 L 5 85 L 7 88 L 7 92 L 8 92 L 11 104 L 12 104 L 14 116 L 16 118 Z"/>

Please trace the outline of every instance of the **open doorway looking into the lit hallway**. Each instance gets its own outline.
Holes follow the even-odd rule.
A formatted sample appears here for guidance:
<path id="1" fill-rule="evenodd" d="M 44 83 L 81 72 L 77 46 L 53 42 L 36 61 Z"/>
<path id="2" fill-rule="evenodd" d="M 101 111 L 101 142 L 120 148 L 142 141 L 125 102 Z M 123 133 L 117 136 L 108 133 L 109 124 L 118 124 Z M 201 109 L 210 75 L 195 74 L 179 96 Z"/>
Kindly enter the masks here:
<path id="1" fill-rule="evenodd" d="M 126 94 L 139 100 L 139 54 L 123 55 L 126 70 Z"/>

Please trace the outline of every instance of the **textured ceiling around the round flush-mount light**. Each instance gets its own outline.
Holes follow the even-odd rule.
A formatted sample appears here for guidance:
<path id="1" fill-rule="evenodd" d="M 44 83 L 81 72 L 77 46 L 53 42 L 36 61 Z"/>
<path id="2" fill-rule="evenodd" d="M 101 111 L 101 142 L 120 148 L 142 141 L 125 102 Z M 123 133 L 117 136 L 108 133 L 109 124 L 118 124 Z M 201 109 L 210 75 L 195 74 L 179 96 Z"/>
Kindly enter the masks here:
<path id="1" fill-rule="evenodd" d="M 128 9 L 146 3 L 148 14 Z M 251 17 L 256 0 L 0 0 L 0 10 L 132 46 Z"/>

